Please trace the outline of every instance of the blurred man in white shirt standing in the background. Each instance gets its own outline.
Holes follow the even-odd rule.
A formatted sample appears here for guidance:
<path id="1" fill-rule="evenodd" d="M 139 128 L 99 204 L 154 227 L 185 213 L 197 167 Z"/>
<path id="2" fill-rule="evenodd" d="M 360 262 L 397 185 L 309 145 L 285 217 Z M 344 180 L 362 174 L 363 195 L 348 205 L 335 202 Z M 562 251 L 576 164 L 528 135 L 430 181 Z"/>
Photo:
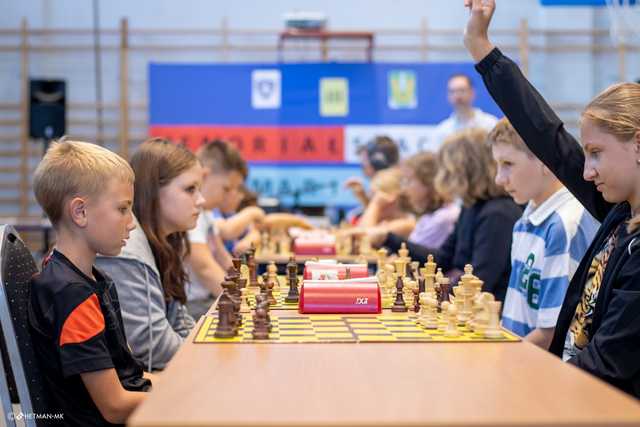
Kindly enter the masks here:
<path id="1" fill-rule="evenodd" d="M 471 78 L 465 74 L 454 74 L 447 83 L 447 98 L 453 107 L 453 114 L 438 124 L 434 130 L 434 149 L 451 134 L 467 128 L 481 128 L 491 131 L 498 119 L 473 107 L 476 93 Z"/>

